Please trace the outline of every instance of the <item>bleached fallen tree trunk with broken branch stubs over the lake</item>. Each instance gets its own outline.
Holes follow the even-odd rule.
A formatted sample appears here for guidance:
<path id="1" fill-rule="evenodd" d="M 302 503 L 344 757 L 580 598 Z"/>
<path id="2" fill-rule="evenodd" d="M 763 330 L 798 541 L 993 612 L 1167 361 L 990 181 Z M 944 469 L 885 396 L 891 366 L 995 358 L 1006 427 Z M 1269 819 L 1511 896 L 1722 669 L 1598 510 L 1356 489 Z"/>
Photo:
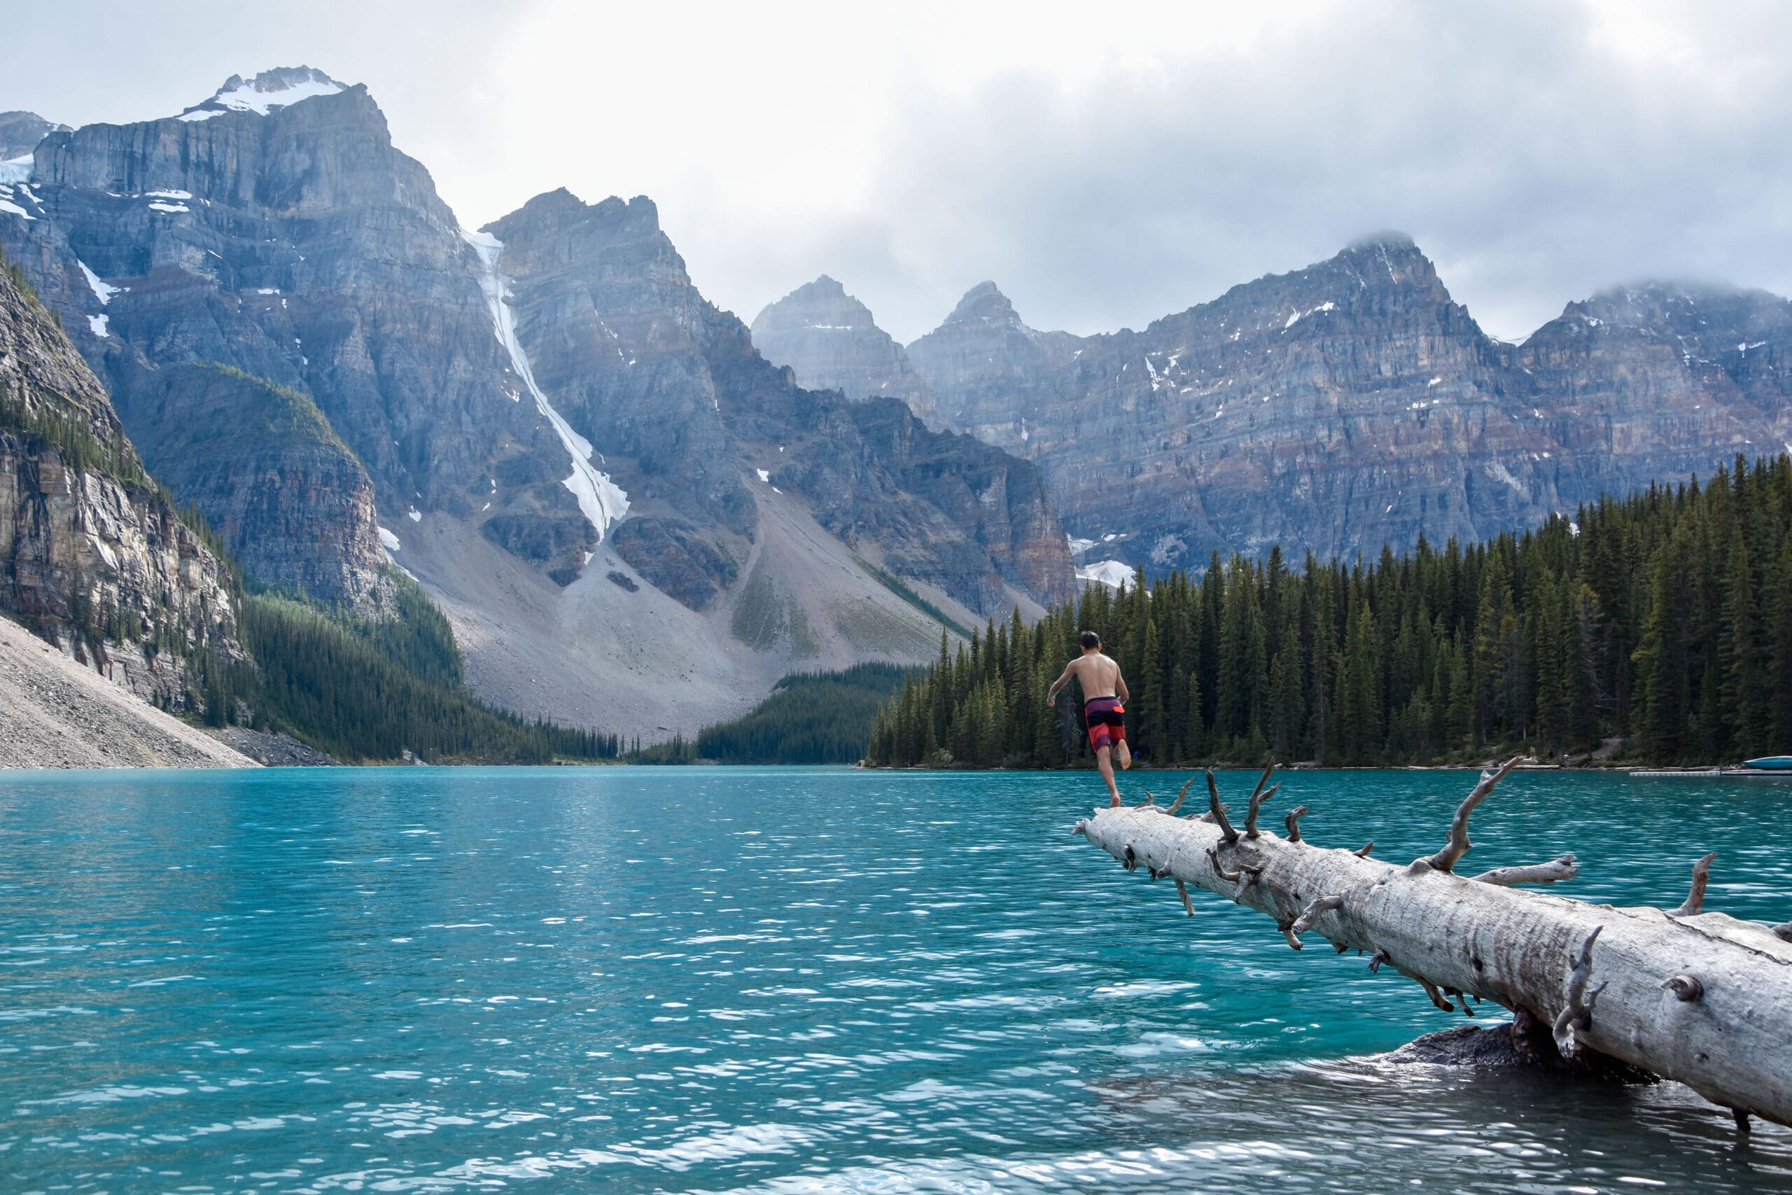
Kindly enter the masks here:
<path id="1" fill-rule="evenodd" d="M 1260 830 L 1269 772 L 1251 794 L 1245 835 L 1228 821 L 1211 772 L 1204 813 L 1174 813 L 1190 778 L 1172 806 L 1100 808 L 1075 830 L 1127 871 L 1174 876 L 1190 914 L 1186 885 L 1202 887 L 1274 917 L 1296 950 L 1317 930 L 1340 953 L 1369 951 L 1371 971 L 1387 964 L 1417 980 L 1439 1009 L 1471 1012 L 1469 998 L 1491 1000 L 1554 1027 L 1568 1059 L 1595 1052 L 1677 1079 L 1733 1109 L 1742 1127 L 1751 1113 L 1792 1125 L 1792 923 L 1699 912 L 1710 856 L 1672 912 L 1512 887 L 1572 878 L 1572 855 L 1457 876 L 1469 813 L 1514 763 L 1482 774 L 1444 847 L 1409 865 Z"/>

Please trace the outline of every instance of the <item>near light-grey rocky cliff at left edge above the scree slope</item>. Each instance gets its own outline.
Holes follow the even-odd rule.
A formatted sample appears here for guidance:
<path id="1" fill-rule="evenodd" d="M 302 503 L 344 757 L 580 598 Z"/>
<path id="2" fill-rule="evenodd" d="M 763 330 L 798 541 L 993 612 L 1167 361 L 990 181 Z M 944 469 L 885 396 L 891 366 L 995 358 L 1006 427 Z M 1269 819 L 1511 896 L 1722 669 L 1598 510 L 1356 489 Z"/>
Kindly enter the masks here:
<path id="1" fill-rule="evenodd" d="M 106 391 L 0 269 L 0 609 L 145 699 L 237 652 L 224 570 L 149 484 Z"/>

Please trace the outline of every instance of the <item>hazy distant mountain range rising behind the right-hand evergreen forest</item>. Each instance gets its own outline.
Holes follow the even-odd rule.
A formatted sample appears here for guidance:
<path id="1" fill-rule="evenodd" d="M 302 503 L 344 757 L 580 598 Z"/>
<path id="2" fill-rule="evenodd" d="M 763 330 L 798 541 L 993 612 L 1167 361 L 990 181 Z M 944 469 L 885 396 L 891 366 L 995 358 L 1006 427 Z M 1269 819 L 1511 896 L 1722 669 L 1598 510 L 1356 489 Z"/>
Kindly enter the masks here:
<path id="1" fill-rule="evenodd" d="M 1645 283 L 1484 333 L 1398 235 L 1233 287 L 1143 331 L 1036 331 L 993 285 L 894 344 L 831 278 L 754 342 L 803 383 L 900 392 L 1036 460 L 1086 579 L 1213 552 L 1475 541 L 1604 493 L 1792 448 L 1792 303 Z"/>

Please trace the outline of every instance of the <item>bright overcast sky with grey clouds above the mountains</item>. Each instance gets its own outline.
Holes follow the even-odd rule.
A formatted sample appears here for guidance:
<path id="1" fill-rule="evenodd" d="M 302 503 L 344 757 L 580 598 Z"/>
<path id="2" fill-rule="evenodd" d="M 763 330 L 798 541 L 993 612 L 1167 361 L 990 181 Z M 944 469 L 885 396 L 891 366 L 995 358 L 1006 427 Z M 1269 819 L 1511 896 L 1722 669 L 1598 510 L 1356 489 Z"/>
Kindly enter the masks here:
<path id="1" fill-rule="evenodd" d="M 828 272 L 909 340 L 996 279 L 1104 331 L 1400 229 L 1495 335 L 1636 278 L 1792 292 L 1792 5 L 18 5 L 0 111 L 366 82 L 470 226 L 647 193 L 751 319 Z"/>

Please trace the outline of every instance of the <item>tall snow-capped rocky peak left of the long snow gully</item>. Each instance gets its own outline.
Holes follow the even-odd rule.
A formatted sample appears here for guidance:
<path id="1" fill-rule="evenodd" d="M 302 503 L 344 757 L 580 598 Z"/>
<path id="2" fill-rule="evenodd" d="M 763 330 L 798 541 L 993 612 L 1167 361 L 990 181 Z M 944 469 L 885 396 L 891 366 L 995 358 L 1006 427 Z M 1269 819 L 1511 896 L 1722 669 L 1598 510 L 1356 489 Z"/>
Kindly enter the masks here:
<path id="1" fill-rule="evenodd" d="M 16 192 L 0 242 L 158 466 L 170 435 L 204 435 L 229 405 L 192 365 L 260 380 L 242 403 L 278 385 L 323 410 L 328 426 L 237 419 L 229 475 L 170 477 L 263 580 L 362 602 L 380 561 L 369 496 L 389 525 L 443 509 L 509 520 L 520 541 L 577 520 L 566 450 L 511 398 L 477 254 L 366 88 L 308 68 L 231 79 L 181 116 L 50 134 Z M 251 468 L 278 484 L 254 493 Z M 330 559 L 314 566 L 314 548 Z"/>

